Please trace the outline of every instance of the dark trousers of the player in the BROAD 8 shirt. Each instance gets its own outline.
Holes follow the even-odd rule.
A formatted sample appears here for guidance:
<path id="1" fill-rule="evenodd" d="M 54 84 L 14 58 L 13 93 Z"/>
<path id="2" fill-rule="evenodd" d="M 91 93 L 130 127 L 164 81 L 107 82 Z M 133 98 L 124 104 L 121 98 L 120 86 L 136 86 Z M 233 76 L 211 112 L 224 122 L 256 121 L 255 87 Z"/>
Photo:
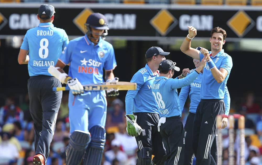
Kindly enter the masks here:
<path id="1" fill-rule="evenodd" d="M 61 87 L 61 82 L 52 76 L 31 76 L 28 80 L 29 108 L 35 129 L 35 151 L 36 154 L 43 155 L 45 160 L 50 152 L 62 99 L 62 91 L 53 92 L 53 87 Z"/>

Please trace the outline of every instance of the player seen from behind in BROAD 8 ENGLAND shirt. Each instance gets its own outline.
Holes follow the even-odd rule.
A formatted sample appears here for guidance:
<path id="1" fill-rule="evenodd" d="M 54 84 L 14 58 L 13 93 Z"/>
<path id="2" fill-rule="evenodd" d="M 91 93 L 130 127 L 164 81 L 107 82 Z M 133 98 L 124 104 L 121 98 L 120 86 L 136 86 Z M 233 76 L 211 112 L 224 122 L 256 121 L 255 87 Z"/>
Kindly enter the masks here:
<path id="1" fill-rule="evenodd" d="M 18 55 L 19 64 L 28 64 L 30 76 L 28 94 L 37 154 L 33 158 L 34 164 L 45 164 L 49 155 L 62 99 L 62 91 L 52 91 L 52 87 L 61 87 L 61 83 L 47 72 L 47 68 L 56 64 L 69 40 L 63 29 L 54 27 L 54 13 L 52 5 L 39 7 L 37 18 L 40 24 L 26 32 Z"/>

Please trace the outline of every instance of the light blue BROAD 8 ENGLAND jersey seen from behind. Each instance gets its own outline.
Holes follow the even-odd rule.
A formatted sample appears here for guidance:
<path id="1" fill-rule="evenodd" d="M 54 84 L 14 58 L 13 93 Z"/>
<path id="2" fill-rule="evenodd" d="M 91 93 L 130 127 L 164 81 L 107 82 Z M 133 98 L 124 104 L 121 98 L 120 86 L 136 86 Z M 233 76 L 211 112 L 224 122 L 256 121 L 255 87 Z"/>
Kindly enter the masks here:
<path id="1" fill-rule="evenodd" d="M 51 76 L 47 69 L 56 64 L 68 42 L 66 32 L 54 27 L 51 22 L 40 23 L 38 27 L 29 29 L 20 47 L 29 50 L 29 76 Z"/>

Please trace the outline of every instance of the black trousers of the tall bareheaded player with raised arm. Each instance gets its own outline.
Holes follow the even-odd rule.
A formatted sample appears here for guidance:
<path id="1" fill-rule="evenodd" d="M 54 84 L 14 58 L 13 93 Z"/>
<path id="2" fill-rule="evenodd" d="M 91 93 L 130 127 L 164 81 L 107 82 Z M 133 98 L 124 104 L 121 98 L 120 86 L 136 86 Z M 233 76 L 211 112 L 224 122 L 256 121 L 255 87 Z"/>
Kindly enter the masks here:
<path id="1" fill-rule="evenodd" d="M 223 100 L 201 99 L 199 102 L 193 123 L 192 143 L 196 165 L 217 164 L 217 157 L 212 156 L 217 153 L 216 141 L 214 142 L 217 134 L 216 117 L 218 114 L 224 114 L 224 112 L 225 103 Z"/>

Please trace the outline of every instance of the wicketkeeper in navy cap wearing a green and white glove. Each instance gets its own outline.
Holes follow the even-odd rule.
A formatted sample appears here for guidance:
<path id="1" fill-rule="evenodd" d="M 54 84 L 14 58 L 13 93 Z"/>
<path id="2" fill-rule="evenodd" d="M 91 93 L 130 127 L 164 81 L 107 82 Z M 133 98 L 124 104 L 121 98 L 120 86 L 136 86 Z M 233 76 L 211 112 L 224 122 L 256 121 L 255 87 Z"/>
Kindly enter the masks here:
<path id="1" fill-rule="evenodd" d="M 163 164 L 165 161 L 165 149 L 157 131 L 159 111 L 151 88 L 153 81 L 159 76 L 157 69 L 160 62 L 168 54 L 160 47 L 150 47 L 145 54 L 148 63 L 130 81 L 137 83 L 137 90 L 129 90 L 125 96 L 127 133 L 136 136 L 137 165 Z M 151 162 L 152 155 L 154 158 Z"/>

